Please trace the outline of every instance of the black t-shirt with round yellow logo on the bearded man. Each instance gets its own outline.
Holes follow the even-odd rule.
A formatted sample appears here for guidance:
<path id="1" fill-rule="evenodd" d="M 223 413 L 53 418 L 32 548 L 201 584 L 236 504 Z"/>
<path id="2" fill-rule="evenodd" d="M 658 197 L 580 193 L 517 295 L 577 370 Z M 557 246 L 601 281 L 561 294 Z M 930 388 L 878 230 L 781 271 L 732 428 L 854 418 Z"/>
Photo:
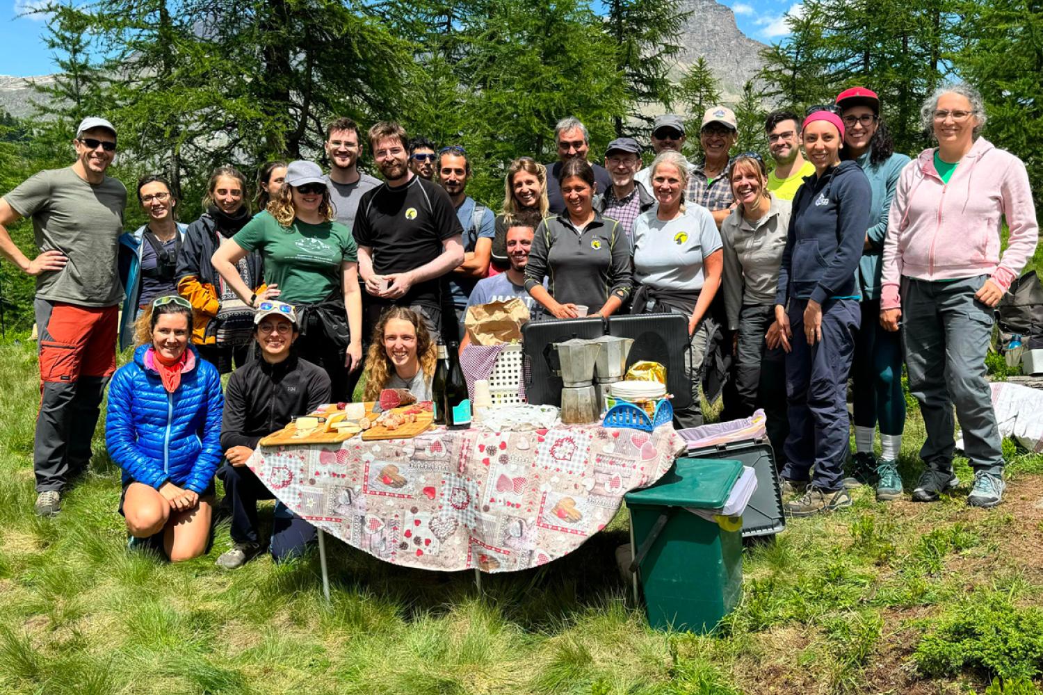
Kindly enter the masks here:
<path id="1" fill-rule="evenodd" d="M 362 194 L 355 218 L 355 242 L 368 246 L 378 275 L 404 273 L 431 263 L 442 242 L 463 233 L 450 196 L 439 185 L 413 176 L 409 183 L 384 183 Z M 414 284 L 396 304 L 439 303 L 439 280 Z"/>

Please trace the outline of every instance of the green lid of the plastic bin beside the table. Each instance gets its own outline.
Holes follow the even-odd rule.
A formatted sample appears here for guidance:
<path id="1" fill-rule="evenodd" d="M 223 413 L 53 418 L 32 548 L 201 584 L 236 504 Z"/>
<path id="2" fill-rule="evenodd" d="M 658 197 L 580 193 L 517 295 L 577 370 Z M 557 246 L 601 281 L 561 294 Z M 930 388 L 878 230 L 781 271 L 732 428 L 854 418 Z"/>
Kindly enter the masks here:
<path id="1" fill-rule="evenodd" d="M 728 501 L 742 472 L 741 461 L 678 458 L 655 485 L 627 493 L 627 504 L 717 510 Z"/>

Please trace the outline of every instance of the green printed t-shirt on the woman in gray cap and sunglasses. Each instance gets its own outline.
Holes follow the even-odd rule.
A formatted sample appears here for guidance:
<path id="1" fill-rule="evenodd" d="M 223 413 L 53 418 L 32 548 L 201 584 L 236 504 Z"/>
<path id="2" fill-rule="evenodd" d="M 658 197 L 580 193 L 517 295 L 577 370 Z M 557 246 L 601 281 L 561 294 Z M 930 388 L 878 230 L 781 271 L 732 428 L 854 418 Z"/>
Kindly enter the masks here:
<path id="1" fill-rule="evenodd" d="M 351 232 L 339 222 L 281 225 L 267 210 L 259 213 L 232 241 L 264 258 L 264 280 L 276 283 L 278 298 L 290 304 L 314 304 L 340 290 L 341 264 L 357 263 Z"/>

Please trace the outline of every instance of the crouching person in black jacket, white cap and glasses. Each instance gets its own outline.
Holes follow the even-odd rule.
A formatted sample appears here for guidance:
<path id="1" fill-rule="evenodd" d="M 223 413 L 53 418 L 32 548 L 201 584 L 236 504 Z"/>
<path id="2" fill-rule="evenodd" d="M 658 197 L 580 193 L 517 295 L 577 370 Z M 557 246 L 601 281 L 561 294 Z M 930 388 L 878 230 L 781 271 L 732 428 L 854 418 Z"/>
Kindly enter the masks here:
<path id="1" fill-rule="evenodd" d="M 228 378 L 221 422 L 225 461 L 217 475 L 224 482 L 225 502 L 232 507 L 233 547 L 217 564 L 228 570 L 242 567 L 264 550 L 258 536 L 258 500 L 273 498 L 246 462 L 263 437 L 282 429 L 294 416 L 307 415 L 329 402 L 331 392 L 324 370 L 290 352 L 299 336 L 292 306 L 261 302 L 253 321 L 260 358 Z M 270 544 L 275 562 L 299 555 L 314 538 L 314 526 L 282 502 L 275 504 Z"/>

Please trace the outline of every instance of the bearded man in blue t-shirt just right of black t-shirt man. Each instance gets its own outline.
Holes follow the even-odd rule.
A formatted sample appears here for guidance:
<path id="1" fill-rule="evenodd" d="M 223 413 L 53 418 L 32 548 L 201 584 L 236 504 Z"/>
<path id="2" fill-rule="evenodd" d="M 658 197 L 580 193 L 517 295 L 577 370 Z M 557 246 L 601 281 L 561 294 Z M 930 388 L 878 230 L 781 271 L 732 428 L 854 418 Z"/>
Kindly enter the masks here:
<path id="1" fill-rule="evenodd" d="M 463 315 L 475 283 L 489 274 L 492 238 L 495 235 L 494 216 L 485 205 L 479 205 L 465 193 L 470 178 L 467 152 L 459 145 L 442 148 L 438 153 L 438 181 L 450 194 L 457 219 L 463 228 L 463 263 L 448 275 L 448 297 L 445 311 L 452 304 L 457 332 L 463 337 Z M 446 316 L 446 325 L 451 317 Z"/>

